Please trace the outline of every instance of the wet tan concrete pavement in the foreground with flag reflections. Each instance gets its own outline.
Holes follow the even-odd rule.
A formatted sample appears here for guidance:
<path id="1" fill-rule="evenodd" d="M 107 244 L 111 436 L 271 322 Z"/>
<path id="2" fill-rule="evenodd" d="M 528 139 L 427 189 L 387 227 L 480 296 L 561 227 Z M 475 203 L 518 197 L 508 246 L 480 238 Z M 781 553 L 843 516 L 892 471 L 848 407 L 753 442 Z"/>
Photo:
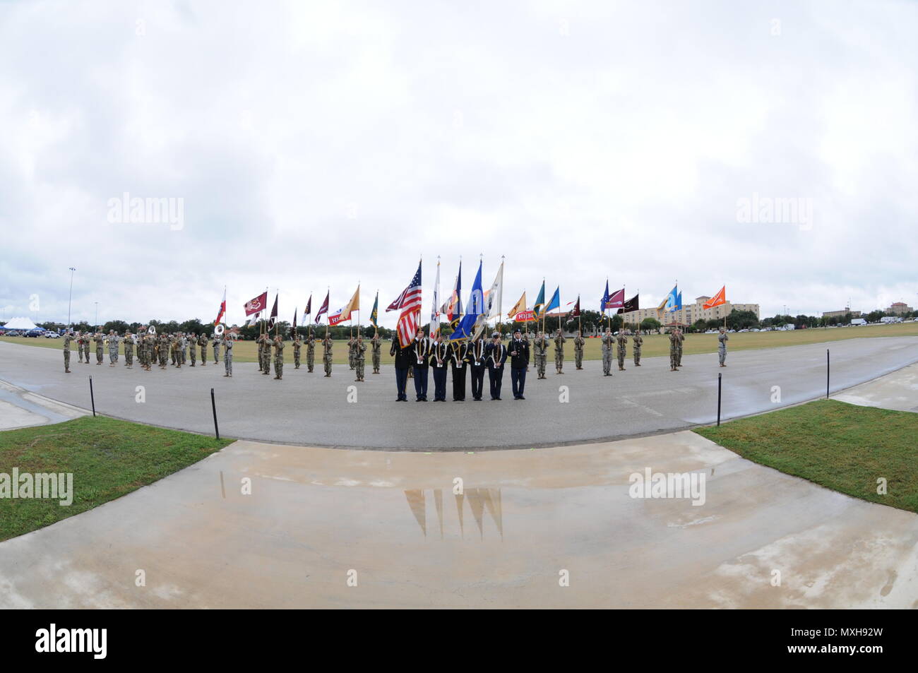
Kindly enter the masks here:
<path id="1" fill-rule="evenodd" d="M 647 467 L 705 477 L 703 502 L 633 499 Z M 239 442 L 0 543 L 0 609 L 915 608 L 916 543 L 912 512 L 694 432 L 472 455 Z"/>

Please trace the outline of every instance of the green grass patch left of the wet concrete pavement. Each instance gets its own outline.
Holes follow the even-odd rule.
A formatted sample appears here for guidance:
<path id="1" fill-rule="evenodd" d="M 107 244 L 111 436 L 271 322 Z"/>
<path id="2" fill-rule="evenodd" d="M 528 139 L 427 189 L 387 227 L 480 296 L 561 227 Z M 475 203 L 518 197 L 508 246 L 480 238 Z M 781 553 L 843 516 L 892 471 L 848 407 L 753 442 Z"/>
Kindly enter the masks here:
<path id="1" fill-rule="evenodd" d="M 0 498 L 0 541 L 79 514 L 223 448 L 217 440 L 102 416 L 0 432 L 0 473 L 73 474 L 73 503 Z"/>

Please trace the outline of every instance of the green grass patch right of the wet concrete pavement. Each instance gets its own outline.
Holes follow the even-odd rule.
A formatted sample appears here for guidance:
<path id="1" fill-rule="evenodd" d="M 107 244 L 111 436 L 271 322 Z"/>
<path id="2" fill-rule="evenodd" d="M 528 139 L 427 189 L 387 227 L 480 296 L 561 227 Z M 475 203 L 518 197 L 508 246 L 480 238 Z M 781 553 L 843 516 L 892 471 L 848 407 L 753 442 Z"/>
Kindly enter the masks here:
<path id="1" fill-rule="evenodd" d="M 744 458 L 918 512 L 918 414 L 823 399 L 696 430 Z M 887 494 L 877 480 L 887 480 Z"/>

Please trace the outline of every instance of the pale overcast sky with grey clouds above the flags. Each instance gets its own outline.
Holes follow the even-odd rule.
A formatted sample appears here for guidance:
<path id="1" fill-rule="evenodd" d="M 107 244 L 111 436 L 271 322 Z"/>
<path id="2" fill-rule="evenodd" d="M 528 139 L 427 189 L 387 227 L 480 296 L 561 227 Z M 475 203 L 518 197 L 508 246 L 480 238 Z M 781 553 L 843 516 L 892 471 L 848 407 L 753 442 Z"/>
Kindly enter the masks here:
<path id="1" fill-rule="evenodd" d="M 213 320 L 224 286 L 230 323 L 266 286 L 290 320 L 359 280 L 366 323 L 423 256 L 426 320 L 437 256 L 465 300 L 481 254 L 505 310 L 607 276 L 914 306 L 915 35 L 915 3 L 0 3 L 0 317 L 66 320 L 74 266 L 74 321 Z M 184 218 L 110 222 L 124 193 Z"/>

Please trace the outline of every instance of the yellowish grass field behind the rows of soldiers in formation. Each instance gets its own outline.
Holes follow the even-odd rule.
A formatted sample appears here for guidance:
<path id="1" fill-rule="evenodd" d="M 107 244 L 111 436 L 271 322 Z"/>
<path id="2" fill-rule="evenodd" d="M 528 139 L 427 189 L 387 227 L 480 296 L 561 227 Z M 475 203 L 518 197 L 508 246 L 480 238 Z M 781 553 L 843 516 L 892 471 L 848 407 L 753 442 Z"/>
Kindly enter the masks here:
<path id="1" fill-rule="evenodd" d="M 863 337 L 887 337 L 887 336 L 915 336 L 918 337 L 918 322 L 901 322 L 892 325 L 866 325 L 864 327 L 845 327 L 835 329 L 816 328 L 812 330 L 795 330 L 795 331 L 750 331 L 745 333 L 735 333 L 730 335 L 730 341 L 727 342 L 729 351 L 744 351 L 752 348 L 775 348 L 777 346 L 794 346 L 801 343 L 818 343 L 829 341 L 840 341 L 844 339 L 856 339 Z M 29 346 L 39 346 L 44 348 L 62 349 L 61 339 L 46 339 L 38 337 L 29 339 L 27 337 L 0 337 L 0 342 L 26 343 Z M 599 351 L 599 339 L 588 339 L 584 358 L 587 360 L 599 360 L 602 355 Z M 94 350 L 91 351 L 93 362 L 95 362 L 95 343 Z M 76 344 L 72 344 L 73 361 L 76 357 Z M 554 345 L 552 346 L 554 348 Z M 392 357 L 389 355 L 389 343 L 383 342 L 383 364 L 390 364 Z M 716 353 L 717 352 L 717 335 L 716 334 L 687 334 L 683 344 L 683 353 Z M 644 357 L 653 357 L 655 355 L 666 355 L 669 353 L 669 338 L 665 334 L 655 334 L 644 337 Z M 335 342 L 332 349 L 334 363 L 340 365 L 347 362 L 347 345 L 346 342 Z M 551 355 L 551 351 L 549 352 Z M 565 355 L 573 357 L 574 344 L 571 341 L 565 343 Z M 321 346 L 316 347 L 316 361 L 321 366 Z M 628 346 L 628 356 L 631 357 L 631 344 Z M 306 362 L 306 348 L 303 348 L 303 362 Z M 213 361 L 213 350 L 207 346 L 207 358 Z M 367 364 L 370 363 L 369 344 L 367 344 Z M 108 359 L 108 351 L 105 353 L 105 361 Z M 285 363 L 293 362 L 293 348 L 289 342 L 284 349 Z M 233 347 L 233 362 L 255 362 L 255 342 L 237 342 Z"/>

